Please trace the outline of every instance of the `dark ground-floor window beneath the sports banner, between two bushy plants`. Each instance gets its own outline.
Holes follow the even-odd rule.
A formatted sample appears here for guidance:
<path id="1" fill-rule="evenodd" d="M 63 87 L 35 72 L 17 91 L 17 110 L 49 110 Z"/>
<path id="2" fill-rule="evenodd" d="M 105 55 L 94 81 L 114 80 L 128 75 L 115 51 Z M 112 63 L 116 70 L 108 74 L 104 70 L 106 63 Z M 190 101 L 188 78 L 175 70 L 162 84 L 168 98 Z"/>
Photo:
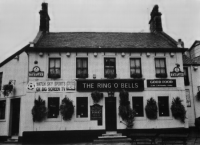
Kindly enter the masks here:
<path id="1" fill-rule="evenodd" d="M 59 115 L 59 97 L 48 98 L 48 118 L 57 118 Z"/>

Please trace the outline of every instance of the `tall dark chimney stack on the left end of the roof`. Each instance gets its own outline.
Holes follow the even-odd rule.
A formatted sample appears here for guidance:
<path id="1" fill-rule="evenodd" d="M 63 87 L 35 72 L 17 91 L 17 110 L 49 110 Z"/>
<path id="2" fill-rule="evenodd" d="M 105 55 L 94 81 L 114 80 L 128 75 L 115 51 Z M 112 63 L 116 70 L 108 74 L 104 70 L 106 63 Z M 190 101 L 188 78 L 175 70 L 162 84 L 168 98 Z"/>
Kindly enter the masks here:
<path id="1" fill-rule="evenodd" d="M 42 10 L 39 12 L 40 14 L 40 31 L 49 32 L 49 21 L 50 17 L 48 14 L 48 4 L 42 3 Z"/>

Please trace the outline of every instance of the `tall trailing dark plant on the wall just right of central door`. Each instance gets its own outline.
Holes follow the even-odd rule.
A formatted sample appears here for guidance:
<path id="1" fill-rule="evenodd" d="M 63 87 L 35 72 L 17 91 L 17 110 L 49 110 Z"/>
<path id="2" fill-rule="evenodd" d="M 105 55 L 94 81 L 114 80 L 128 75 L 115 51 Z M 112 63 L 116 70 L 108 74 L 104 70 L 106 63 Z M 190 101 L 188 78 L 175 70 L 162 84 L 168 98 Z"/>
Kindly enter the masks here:
<path id="1" fill-rule="evenodd" d="M 133 122 L 135 118 L 135 110 L 130 107 L 130 101 L 128 99 L 128 92 L 122 90 L 119 94 L 120 96 L 120 106 L 119 106 L 119 116 L 122 118 L 123 121 L 126 122 L 126 127 L 132 128 Z"/>

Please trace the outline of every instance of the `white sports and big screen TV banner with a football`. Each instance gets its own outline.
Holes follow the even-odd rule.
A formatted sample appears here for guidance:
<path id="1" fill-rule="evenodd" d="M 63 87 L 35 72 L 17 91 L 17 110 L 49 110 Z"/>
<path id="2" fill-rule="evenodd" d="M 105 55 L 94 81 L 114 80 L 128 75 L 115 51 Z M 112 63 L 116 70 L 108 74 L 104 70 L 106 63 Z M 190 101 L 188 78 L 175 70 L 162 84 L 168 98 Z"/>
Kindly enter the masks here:
<path id="1" fill-rule="evenodd" d="M 27 90 L 29 92 L 67 92 L 75 91 L 76 82 L 69 81 L 37 81 L 29 82 Z"/>

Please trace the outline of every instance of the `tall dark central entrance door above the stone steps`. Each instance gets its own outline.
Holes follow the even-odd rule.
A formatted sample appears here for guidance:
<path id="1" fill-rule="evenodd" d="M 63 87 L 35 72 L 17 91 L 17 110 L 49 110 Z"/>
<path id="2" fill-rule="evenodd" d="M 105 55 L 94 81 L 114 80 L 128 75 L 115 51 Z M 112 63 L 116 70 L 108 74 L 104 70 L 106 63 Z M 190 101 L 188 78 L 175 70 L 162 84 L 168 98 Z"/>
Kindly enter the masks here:
<path id="1" fill-rule="evenodd" d="M 117 129 L 117 118 L 116 118 L 116 98 L 106 97 L 105 98 L 105 109 L 106 109 L 106 130 L 115 131 Z"/>

